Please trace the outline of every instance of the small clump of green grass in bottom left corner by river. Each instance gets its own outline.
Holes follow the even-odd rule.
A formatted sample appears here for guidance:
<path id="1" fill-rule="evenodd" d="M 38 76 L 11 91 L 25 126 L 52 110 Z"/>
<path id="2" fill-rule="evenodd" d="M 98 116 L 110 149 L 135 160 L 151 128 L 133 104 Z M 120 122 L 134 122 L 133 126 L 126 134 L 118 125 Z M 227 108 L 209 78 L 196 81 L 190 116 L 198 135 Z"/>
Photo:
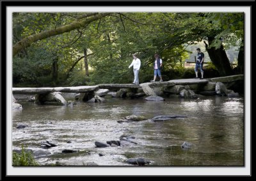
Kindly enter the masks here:
<path id="1" fill-rule="evenodd" d="M 39 166 L 35 161 L 33 154 L 22 145 L 21 153 L 12 153 L 12 166 Z"/>

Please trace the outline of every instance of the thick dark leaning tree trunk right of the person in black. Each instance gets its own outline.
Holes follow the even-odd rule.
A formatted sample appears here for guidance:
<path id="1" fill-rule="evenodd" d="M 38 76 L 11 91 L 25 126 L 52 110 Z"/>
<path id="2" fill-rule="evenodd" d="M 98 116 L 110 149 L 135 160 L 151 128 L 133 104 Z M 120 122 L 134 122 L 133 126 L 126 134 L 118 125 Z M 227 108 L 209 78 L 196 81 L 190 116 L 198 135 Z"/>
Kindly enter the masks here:
<path id="1" fill-rule="evenodd" d="M 213 40 L 214 38 L 208 37 L 209 45 Z M 212 63 L 217 68 L 220 76 L 232 75 L 233 71 L 230 66 L 230 62 L 224 50 L 223 45 L 221 45 L 220 49 L 215 49 L 214 47 L 209 48 L 209 45 L 206 42 L 204 43 L 205 43 L 206 51 L 208 52 Z"/>

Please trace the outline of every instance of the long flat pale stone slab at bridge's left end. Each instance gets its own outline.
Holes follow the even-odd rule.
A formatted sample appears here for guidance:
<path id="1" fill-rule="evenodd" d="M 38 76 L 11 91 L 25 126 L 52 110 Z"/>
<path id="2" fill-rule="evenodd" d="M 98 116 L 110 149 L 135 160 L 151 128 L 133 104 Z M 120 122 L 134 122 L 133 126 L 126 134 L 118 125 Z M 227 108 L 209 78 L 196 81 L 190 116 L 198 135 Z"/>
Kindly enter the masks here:
<path id="1" fill-rule="evenodd" d="M 55 91 L 67 93 L 85 93 L 95 91 L 98 86 L 77 86 L 77 87 L 57 87 L 57 88 L 12 88 L 13 94 L 44 94 Z"/>

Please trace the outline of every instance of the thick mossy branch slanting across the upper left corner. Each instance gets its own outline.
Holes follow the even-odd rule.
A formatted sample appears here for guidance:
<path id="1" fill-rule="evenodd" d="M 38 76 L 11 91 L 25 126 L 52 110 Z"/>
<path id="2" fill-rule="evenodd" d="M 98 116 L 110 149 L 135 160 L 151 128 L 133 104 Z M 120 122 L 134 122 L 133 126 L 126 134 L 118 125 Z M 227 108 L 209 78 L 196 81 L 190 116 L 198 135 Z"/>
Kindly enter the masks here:
<path id="1" fill-rule="evenodd" d="M 38 40 L 43 40 L 45 38 L 49 38 L 51 36 L 60 35 L 69 31 L 72 31 L 73 29 L 84 27 L 86 24 L 89 24 L 90 22 L 93 22 L 95 20 L 101 19 L 102 17 L 106 17 L 107 15 L 110 15 L 111 13 L 98 13 L 95 15 L 95 13 L 92 14 L 92 17 L 88 17 L 88 19 L 82 19 L 82 20 L 75 20 L 74 22 L 61 26 L 59 28 L 50 29 L 48 31 L 44 31 L 42 33 L 38 33 L 35 35 L 28 36 L 19 42 L 15 43 L 13 45 L 13 57 L 22 49 L 25 49 L 26 47 L 29 47 L 31 43 L 34 43 Z"/>

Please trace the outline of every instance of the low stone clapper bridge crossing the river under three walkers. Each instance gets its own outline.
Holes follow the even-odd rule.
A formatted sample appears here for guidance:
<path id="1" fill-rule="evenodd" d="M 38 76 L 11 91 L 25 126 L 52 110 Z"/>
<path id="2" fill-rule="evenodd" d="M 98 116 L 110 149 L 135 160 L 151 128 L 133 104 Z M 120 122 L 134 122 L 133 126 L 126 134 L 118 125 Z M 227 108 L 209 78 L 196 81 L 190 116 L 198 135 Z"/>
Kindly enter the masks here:
<path id="1" fill-rule="evenodd" d="M 117 91 L 116 95 L 112 94 L 113 97 L 134 98 L 145 95 L 149 97 L 158 97 L 165 93 L 184 98 L 197 98 L 195 93 L 199 93 L 201 95 L 228 95 L 230 92 L 234 93 L 234 91 L 228 90 L 228 88 L 232 88 L 234 85 L 243 86 L 243 83 L 244 75 L 231 75 L 211 79 L 176 79 L 164 82 L 142 83 L 140 85 L 99 84 L 97 86 L 56 88 L 12 88 L 12 93 L 13 95 L 35 94 L 36 104 L 66 105 L 68 102 L 60 93 L 77 93 L 76 99 L 81 99 L 84 102 L 102 102 L 100 96 L 106 95 L 108 91 Z M 13 99 L 13 103 L 15 103 L 15 98 Z"/>

